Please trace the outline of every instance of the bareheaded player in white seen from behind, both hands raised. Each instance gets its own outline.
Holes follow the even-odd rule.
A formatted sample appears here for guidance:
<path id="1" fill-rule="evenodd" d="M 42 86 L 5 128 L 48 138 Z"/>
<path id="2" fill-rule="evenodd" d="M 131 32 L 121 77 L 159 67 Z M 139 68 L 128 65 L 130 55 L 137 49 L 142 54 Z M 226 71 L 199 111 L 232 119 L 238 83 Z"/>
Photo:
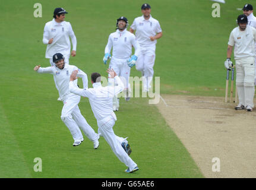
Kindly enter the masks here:
<path id="1" fill-rule="evenodd" d="M 77 73 L 78 71 L 74 71 L 70 76 L 69 90 L 74 94 L 89 98 L 91 109 L 93 110 L 99 126 L 99 133 L 105 138 L 118 159 L 128 166 L 125 172 L 131 173 L 137 171 L 137 164 L 128 156 L 128 152 L 125 150 L 127 147 L 122 148 L 122 145 L 113 131 L 116 115 L 112 109 L 112 97 L 124 90 L 124 84 L 113 69 L 108 69 L 109 80 L 114 80 L 116 85 L 102 87 L 100 74 L 94 72 L 91 74 L 93 88 L 81 89 L 74 83 L 77 79 Z M 113 84 L 113 82 L 110 84 Z"/>

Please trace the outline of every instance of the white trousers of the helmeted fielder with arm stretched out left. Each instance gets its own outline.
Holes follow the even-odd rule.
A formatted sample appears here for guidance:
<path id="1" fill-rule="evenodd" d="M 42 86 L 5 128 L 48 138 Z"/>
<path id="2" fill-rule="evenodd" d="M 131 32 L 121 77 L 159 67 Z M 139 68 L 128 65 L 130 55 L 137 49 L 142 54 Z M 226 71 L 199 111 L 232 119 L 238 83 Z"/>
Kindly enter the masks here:
<path id="1" fill-rule="evenodd" d="M 61 119 L 71 132 L 74 141 L 83 139 L 80 129 L 84 132 L 90 141 L 95 141 L 99 135 L 94 132 L 93 128 L 87 123 L 83 115 L 81 115 L 78 103 L 80 96 L 75 94 L 68 94 L 68 97 L 63 101 L 64 106 L 61 112 Z"/>

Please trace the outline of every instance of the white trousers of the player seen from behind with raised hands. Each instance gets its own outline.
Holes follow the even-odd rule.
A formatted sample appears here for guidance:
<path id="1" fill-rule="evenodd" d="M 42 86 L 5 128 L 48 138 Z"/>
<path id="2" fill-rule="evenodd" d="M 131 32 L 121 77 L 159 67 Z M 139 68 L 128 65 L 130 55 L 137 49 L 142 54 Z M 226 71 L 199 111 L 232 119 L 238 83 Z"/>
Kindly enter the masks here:
<path id="1" fill-rule="evenodd" d="M 99 126 L 100 134 L 105 138 L 118 159 L 128 166 L 129 169 L 136 167 L 137 164 L 131 159 L 131 157 L 128 156 L 124 148 L 122 148 L 122 145 L 113 131 L 115 120 L 112 118 L 112 116 L 104 118 L 101 121 L 97 121 L 97 124 Z"/>

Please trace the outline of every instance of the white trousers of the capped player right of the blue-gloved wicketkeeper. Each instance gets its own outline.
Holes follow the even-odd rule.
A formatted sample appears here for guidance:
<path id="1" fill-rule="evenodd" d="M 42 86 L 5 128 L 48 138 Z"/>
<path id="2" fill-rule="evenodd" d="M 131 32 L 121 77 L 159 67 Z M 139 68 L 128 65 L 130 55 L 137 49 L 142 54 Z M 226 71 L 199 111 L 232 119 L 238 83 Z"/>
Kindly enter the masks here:
<path id="1" fill-rule="evenodd" d="M 141 50 L 141 54 L 136 61 L 136 69 L 142 72 L 143 88 L 150 88 L 150 83 L 154 75 L 154 61 L 156 59 L 156 46 L 145 48 Z"/>

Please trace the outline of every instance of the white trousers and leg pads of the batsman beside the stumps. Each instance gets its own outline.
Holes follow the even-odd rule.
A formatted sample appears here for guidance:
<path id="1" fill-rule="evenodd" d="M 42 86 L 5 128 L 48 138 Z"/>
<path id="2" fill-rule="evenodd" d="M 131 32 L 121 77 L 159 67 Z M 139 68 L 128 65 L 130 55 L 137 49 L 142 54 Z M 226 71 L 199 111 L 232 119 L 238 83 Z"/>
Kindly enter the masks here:
<path id="1" fill-rule="evenodd" d="M 254 107 L 254 57 L 236 59 L 236 87 L 239 104 Z"/>

